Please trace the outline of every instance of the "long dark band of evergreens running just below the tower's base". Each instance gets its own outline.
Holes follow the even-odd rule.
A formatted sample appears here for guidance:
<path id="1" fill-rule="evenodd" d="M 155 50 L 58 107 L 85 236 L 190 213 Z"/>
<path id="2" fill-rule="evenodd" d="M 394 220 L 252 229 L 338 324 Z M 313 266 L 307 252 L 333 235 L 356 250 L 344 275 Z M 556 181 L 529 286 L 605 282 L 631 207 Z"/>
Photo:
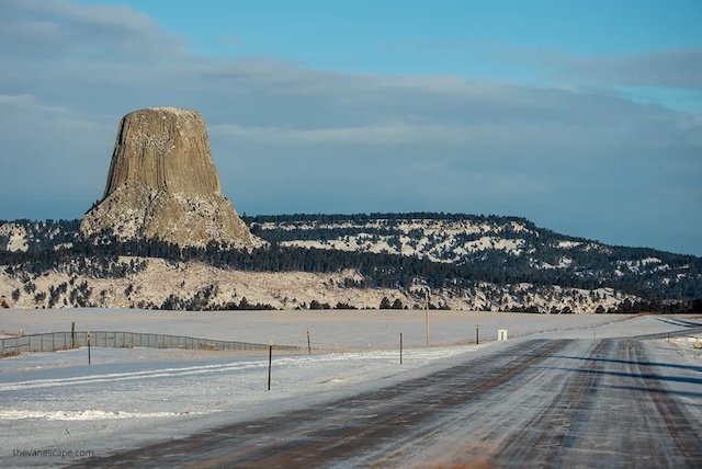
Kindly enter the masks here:
<path id="1" fill-rule="evenodd" d="M 10 274 L 41 275 L 47 271 L 70 268 L 94 277 L 124 277 L 145 268 L 143 262 L 120 262 L 118 256 L 161 258 L 171 262 L 197 261 L 222 268 L 257 272 L 333 273 L 356 270 L 362 281 L 349 279 L 343 287 L 385 287 L 408 289 L 417 281 L 431 288 L 474 288 L 480 282 L 497 285 L 530 283 L 537 286 L 561 285 L 566 288 L 595 289 L 612 287 L 648 300 L 675 297 L 702 297 L 694 288 L 671 291 L 624 279 L 582 277 L 569 271 L 529 268 L 528 261 L 506 258 L 501 251 L 484 253 L 483 262 L 462 265 L 431 262 L 416 256 L 387 253 L 270 247 L 253 251 L 226 249 L 216 243 L 207 247 L 180 248 L 160 240 L 118 241 L 111 233 L 76 241 L 69 249 L 0 251 L 0 265 Z M 693 285 L 694 286 L 694 285 Z"/>

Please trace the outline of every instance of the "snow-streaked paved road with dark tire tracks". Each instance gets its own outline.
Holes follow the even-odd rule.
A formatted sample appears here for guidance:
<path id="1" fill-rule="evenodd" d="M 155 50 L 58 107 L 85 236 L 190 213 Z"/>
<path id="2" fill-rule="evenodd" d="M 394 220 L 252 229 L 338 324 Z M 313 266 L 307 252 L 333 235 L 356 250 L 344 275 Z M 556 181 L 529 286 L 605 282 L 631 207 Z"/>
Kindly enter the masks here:
<path id="1" fill-rule="evenodd" d="M 702 408 L 702 367 L 653 363 L 649 343 L 523 341 L 329 404 L 73 467 L 700 468 L 702 419 L 690 409 Z"/>

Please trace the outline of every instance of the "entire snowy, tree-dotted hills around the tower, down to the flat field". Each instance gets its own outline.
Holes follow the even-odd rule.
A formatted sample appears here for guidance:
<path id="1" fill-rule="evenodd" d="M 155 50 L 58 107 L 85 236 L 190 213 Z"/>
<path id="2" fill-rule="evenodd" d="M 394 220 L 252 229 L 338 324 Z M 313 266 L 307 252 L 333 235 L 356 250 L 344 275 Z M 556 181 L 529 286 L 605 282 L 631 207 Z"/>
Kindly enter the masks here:
<path id="1" fill-rule="evenodd" d="M 78 220 L 0 222 L 0 306 L 162 309 L 433 308 L 634 312 L 702 298 L 702 260 L 605 245 L 514 217 L 445 214 L 245 217 L 269 242 L 89 243 Z M 397 262 L 395 260 L 405 260 Z"/>

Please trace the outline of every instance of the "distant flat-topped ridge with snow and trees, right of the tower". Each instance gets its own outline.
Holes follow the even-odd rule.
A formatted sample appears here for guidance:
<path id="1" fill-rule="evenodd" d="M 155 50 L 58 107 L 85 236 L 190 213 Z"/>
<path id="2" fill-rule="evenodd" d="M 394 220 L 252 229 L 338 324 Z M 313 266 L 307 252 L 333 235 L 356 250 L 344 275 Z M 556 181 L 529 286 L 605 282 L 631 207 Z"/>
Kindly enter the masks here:
<path id="1" fill-rule="evenodd" d="M 607 245 L 559 234 L 516 217 L 462 214 L 291 215 L 250 217 L 271 242 L 327 250 L 390 253 L 484 270 L 556 271 L 595 289 L 602 281 L 702 297 L 702 259 Z M 588 282 L 590 279 L 591 282 Z M 678 286 L 679 284 L 679 286 Z M 633 288 L 632 288 L 633 287 Z"/>

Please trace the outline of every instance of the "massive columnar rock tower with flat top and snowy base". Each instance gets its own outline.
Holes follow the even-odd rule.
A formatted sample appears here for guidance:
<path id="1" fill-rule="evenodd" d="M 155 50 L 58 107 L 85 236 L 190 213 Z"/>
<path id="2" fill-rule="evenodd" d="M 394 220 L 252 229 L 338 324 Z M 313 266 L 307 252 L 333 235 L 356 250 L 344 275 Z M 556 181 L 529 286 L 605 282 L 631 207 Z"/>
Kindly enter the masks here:
<path id="1" fill-rule="evenodd" d="M 160 238 L 251 247 L 253 237 L 222 194 L 205 122 L 195 111 L 155 107 L 122 118 L 102 201 L 84 216 L 83 236 Z"/>

